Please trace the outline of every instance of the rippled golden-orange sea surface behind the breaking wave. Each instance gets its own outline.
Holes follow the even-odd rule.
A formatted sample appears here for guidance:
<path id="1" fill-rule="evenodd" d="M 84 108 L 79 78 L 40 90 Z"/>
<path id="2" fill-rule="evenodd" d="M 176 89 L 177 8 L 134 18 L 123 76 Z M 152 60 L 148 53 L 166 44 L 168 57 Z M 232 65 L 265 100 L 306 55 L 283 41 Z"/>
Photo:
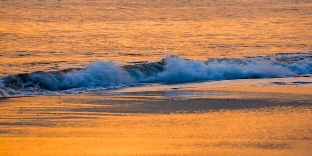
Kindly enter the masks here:
<path id="1" fill-rule="evenodd" d="M 1 0 L 0 75 L 312 51 L 310 0 Z"/>

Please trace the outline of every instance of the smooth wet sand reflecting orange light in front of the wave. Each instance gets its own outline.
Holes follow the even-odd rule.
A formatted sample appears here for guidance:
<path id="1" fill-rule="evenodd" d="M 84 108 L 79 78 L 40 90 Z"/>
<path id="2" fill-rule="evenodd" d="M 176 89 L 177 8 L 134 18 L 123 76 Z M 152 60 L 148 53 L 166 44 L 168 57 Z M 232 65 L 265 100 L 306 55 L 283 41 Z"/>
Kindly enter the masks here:
<path id="1" fill-rule="evenodd" d="M 296 86 L 308 89 L 292 93 Z M 275 92 L 171 87 L 1 98 L 0 156 L 312 153 L 310 85 L 275 85 Z"/>

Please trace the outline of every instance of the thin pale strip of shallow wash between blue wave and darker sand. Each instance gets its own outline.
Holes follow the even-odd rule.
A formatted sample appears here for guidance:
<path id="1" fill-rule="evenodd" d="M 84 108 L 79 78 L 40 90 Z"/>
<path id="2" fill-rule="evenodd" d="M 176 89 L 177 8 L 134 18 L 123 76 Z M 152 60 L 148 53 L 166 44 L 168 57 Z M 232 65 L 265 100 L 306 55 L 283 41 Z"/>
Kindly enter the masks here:
<path id="1" fill-rule="evenodd" d="M 262 79 L 233 79 L 203 82 L 185 82 L 178 84 L 147 83 L 132 87 L 121 87 L 114 89 L 101 89 L 86 91 L 79 94 L 102 94 L 102 93 L 127 93 L 127 92 L 146 92 L 146 91 L 213 91 L 213 92 L 259 92 L 259 93 L 290 93 L 290 94 L 312 94 L 312 74 L 305 74 L 304 77 L 286 78 L 262 78 Z M 53 93 L 53 92 L 51 92 Z M 66 93 L 55 94 L 34 94 L 4 96 L 4 98 L 32 97 L 32 96 L 60 96 L 71 95 Z"/>

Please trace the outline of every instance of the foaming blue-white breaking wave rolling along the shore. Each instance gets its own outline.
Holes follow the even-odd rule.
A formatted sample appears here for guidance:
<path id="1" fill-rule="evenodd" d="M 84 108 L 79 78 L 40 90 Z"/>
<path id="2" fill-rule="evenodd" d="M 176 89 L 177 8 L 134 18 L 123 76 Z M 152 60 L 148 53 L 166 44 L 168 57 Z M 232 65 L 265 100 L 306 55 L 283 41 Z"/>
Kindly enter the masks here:
<path id="1" fill-rule="evenodd" d="M 207 80 L 292 77 L 312 73 L 312 52 L 205 61 L 165 55 L 157 62 L 120 65 L 95 60 L 84 68 L 33 72 L 0 78 L 0 96 L 81 93 L 135 86 Z"/>

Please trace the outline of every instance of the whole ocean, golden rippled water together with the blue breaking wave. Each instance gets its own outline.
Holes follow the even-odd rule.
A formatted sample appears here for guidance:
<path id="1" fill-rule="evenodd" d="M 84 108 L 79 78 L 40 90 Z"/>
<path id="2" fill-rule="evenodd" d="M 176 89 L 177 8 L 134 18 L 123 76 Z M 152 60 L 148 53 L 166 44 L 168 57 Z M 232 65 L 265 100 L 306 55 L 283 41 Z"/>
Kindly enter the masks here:
<path id="1" fill-rule="evenodd" d="M 0 96 L 281 77 L 310 84 L 311 21 L 310 0 L 1 0 Z"/>

